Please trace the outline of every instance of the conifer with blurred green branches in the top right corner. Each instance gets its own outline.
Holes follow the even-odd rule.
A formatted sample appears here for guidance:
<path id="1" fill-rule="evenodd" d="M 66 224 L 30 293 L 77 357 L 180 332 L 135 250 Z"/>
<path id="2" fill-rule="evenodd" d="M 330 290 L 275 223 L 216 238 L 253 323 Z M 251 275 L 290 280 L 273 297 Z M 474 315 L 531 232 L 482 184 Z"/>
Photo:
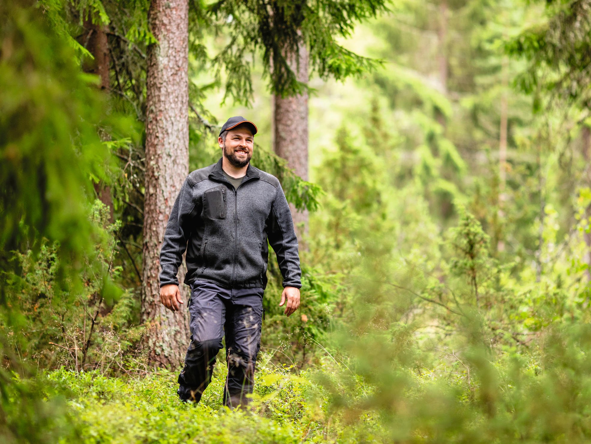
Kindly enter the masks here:
<path id="1" fill-rule="evenodd" d="M 509 54 L 528 60 L 528 69 L 517 79 L 522 91 L 533 96 L 534 111 L 545 106 L 580 110 L 576 125 L 580 128 L 580 159 L 584 170 L 589 165 L 589 110 L 591 94 L 591 16 L 589 0 L 548 0 L 544 14 L 517 37 L 506 44 Z M 537 5 L 534 5 L 537 6 Z M 580 176 L 577 185 L 591 187 L 588 173 Z M 591 205 L 586 208 L 586 223 L 589 224 Z M 540 220 L 543 220 L 540 211 Z M 583 236 L 587 245 L 584 258 L 591 267 L 591 236 Z M 591 273 L 587 273 L 591 280 Z"/>

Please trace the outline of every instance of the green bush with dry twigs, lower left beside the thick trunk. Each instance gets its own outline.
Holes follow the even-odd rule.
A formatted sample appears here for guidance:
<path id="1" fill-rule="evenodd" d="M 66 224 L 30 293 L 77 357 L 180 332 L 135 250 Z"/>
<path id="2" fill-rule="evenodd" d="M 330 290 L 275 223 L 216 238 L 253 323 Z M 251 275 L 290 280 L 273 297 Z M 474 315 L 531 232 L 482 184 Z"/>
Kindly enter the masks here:
<path id="1" fill-rule="evenodd" d="M 123 271 L 114 265 L 121 224 L 109 223 L 109 210 L 100 201 L 95 202 L 91 219 L 104 231 L 95 244 L 96 254 L 84 258 L 82 289 L 71 279 L 57 282 L 56 243 L 41 240 L 38 256 L 31 250 L 17 254 L 21 274 L 9 276 L 8 304 L 21 318 L 14 326 L 3 322 L 1 329 L 24 365 L 74 370 L 99 366 L 105 372 L 118 372 L 135 352 L 132 346 L 141 329 L 128 329 L 128 323 L 137 317 L 137 301 L 113 283 Z"/>

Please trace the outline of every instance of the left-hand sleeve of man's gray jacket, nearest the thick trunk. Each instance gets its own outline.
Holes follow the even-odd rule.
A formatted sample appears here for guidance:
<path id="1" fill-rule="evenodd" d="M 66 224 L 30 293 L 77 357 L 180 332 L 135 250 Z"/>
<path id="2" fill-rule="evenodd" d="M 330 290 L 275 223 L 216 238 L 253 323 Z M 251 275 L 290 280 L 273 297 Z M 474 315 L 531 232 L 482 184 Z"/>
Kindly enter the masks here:
<path id="1" fill-rule="evenodd" d="M 193 186 L 187 177 L 174 201 L 164 231 L 164 241 L 160 250 L 160 287 L 168 284 L 178 285 L 178 267 L 183 263 L 183 253 L 187 249 L 187 240 L 191 235 L 191 220 L 196 215 L 195 208 Z"/>

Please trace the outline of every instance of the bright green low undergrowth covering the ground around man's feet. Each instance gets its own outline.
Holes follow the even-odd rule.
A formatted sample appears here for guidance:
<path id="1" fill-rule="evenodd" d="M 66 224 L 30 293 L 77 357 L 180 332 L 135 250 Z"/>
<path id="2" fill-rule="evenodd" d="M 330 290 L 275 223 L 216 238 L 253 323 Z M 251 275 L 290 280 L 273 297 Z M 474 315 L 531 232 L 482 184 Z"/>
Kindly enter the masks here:
<path id="1" fill-rule="evenodd" d="M 222 406 L 225 369 L 217 365 L 212 383 L 195 405 L 178 400 L 177 372 L 124 377 L 98 371 L 48 372 L 72 407 L 81 442 L 296 443 L 349 442 L 359 429 L 327 414 L 327 399 L 310 372 L 288 366 L 259 366 L 253 400 L 245 410 Z M 368 424 L 365 424 L 368 425 Z M 363 441 L 373 439 L 363 433 Z"/>

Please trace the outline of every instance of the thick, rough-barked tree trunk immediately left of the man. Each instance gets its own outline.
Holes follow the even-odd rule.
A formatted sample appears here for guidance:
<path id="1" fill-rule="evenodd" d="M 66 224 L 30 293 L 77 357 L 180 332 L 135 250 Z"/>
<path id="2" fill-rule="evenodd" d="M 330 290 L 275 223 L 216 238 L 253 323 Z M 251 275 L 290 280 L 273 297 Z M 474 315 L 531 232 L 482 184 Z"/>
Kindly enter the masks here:
<path id="1" fill-rule="evenodd" d="M 189 172 L 188 14 L 187 0 L 150 4 L 158 44 L 148 48 L 142 320 L 152 325 L 148 359 L 155 366 L 177 366 L 189 340 L 187 311 L 173 313 L 160 304 L 158 279 L 168 216 Z M 178 280 L 186 302 L 183 267 Z"/>

